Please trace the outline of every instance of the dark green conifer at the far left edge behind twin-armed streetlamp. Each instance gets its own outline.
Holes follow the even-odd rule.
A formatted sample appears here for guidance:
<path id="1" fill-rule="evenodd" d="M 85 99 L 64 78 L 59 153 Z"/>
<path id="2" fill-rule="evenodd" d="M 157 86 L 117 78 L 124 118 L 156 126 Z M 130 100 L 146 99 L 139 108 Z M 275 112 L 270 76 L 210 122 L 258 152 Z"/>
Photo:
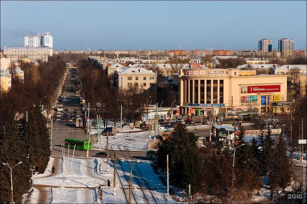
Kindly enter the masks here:
<path id="1" fill-rule="evenodd" d="M 11 200 L 11 177 L 10 169 L 2 163 L 9 163 L 10 167 L 14 167 L 12 171 L 14 201 L 21 203 L 21 198 L 29 189 L 31 172 L 28 158 L 26 158 L 26 150 L 24 140 L 19 136 L 17 123 L 13 118 L 13 114 L 7 115 L 1 121 L 1 181 L 0 181 L 0 202 L 7 202 Z"/>

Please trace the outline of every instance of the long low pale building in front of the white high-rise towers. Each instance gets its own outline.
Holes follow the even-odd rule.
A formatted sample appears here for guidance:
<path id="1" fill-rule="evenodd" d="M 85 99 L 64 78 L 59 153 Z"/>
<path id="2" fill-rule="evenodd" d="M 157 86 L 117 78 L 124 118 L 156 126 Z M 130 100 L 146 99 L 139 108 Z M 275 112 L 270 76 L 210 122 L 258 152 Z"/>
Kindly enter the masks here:
<path id="1" fill-rule="evenodd" d="M 52 54 L 52 47 L 4 47 L 6 57 L 30 57 L 48 61 L 48 56 Z"/>

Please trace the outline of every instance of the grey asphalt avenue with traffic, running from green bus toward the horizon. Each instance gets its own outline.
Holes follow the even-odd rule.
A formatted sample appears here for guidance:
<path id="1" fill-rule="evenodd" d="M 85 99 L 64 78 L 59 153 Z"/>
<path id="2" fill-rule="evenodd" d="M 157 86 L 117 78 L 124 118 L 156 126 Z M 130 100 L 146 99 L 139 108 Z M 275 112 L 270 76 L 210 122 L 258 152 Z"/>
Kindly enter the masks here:
<path id="1" fill-rule="evenodd" d="M 83 105 L 80 104 L 79 97 L 76 97 L 76 87 L 72 80 L 69 78 L 75 78 L 76 74 L 72 72 L 72 74 L 68 74 L 68 80 L 65 81 L 65 85 L 63 86 L 62 95 L 66 96 L 66 100 L 70 101 L 68 108 L 63 107 L 63 109 L 68 109 L 67 115 L 69 116 L 71 112 L 74 110 L 78 110 L 78 113 L 81 113 L 81 107 Z M 70 85 L 71 84 L 71 85 Z M 82 96 L 82 92 L 80 93 Z M 62 102 L 60 104 L 63 104 Z M 56 111 L 54 111 L 56 114 Z M 53 117 L 55 117 L 55 114 Z M 80 117 L 84 118 L 84 113 L 80 114 Z M 62 121 L 55 121 L 53 120 L 52 124 L 52 156 L 60 156 L 62 157 L 62 147 L 64 145 L 65 138 L 72 138 L 72 139 L 82 139 L 87 140 L 88 134 L 86 133 L 84 128 L 76 128 L 76 113 L 74 116 L 73 122 L 62 122 Z M 91 140 L 94 139 L 96 136 L 91 135 Z M 95 157 L 97 152 L 101 150 L 89 150 L 89 158 Z M 65 149 L 66 155 L 68 154 L 68 149 Z M 69 151 L 70 156 L 72 156 L 73 150 Z M 111 151 L 110 151 L 111 152 Z M 86 158 L 86 150 L 75 150 L 74 157 L 78 158 Z M 134 157 L 135 159 L 146 159 L 144 151 L 133 151 L 129 152 L 122 152 L 116 151 L 118 158 L 130 158 L 129 154 Z"/>

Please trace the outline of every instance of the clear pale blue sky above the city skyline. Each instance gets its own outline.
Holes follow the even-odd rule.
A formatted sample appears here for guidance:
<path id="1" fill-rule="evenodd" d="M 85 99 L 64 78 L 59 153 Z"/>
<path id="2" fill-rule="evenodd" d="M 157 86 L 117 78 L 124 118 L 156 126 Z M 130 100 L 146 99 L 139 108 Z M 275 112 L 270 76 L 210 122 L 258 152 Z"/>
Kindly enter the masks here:
<path id="1" fill-rule="evenodd" d="M 257 49 L 306 46 L 306 1 L 1 1 L 0 46 L 51 32 L 53 48 Z"/>

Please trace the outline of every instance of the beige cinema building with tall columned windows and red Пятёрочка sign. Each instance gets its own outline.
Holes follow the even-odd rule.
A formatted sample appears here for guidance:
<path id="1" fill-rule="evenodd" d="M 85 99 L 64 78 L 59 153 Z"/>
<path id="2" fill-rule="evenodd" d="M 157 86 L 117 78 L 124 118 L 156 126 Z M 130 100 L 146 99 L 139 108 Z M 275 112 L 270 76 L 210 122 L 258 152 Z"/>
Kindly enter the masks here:
<path id="1" fill-rule="evenodd" d="M 180 114 L 223 116 L 272 112 L 273 102 L 287 101 L 287 75 L 256 75 L 255 70 L 189 69 L 173 75 L 173 91 Z"/>

